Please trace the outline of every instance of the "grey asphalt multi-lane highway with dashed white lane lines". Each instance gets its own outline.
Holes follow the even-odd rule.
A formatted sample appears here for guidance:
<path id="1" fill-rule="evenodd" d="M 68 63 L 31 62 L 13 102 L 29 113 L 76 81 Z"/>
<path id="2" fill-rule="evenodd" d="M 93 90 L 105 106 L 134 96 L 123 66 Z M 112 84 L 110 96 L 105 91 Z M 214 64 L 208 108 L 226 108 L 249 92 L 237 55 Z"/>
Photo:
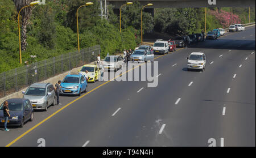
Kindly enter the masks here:
<path id="1" fill-rule="evenodd" d="M 187 71 L 204 52 L 205 71 Z M 81 97 L 0 131 L 0 146 L 255 146 L 255 26 L 166 55 L 158 86 L 96 82 Z"/>

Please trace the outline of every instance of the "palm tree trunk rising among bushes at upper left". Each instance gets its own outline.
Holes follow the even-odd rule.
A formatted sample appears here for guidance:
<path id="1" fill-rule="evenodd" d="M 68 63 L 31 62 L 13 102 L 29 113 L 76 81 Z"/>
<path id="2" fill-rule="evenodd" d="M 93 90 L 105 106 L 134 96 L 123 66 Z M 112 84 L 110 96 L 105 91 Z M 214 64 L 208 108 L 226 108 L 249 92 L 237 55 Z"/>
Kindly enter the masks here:
<path id="1" fill-rule="evenodd" d="M 30 3 L 33 0 L 13 0 L 15 6 L 16 6 L 16 10 L 17 12 L 19 12 L 19 10 L 27 5 L 30 5 Z M 21 16 L 21 37 L 20 37 L 20 43 L 21 43 L 21 49 L 22 50 L 26 50 L 26 46 L 27 46 L 27 25 L 28 25 L 28 21 L 30 19 L 30 15 L 31 15 L 31 11 L 32 11 L 32 7 L 26 7 L 24 8 L 21 12 L 20 12 L 20 16 Z"/>

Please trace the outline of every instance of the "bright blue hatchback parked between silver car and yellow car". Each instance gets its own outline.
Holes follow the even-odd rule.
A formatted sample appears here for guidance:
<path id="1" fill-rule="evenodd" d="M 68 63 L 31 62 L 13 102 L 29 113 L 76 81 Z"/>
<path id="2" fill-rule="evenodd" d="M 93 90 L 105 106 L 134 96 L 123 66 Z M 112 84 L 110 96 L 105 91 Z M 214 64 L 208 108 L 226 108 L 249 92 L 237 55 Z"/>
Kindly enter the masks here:
<path id="1" fill-rule="evenodd" d="M 60 84 L 60 95 L 78 95 L 87 92 L 85 75 L 67 75 Z"/>

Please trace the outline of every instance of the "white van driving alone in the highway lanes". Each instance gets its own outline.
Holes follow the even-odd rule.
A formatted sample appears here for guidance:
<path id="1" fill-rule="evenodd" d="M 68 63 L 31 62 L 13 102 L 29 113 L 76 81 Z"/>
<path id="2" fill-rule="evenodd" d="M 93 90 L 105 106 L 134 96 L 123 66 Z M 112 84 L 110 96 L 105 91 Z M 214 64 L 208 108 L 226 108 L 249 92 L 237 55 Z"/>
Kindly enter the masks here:
<path id="1" fill-rule="evenodd" d="M 193 52 L 189 55 L 188 59 L 188 71 L 191 69 L 199 69 L 203 71 L 205 69 L 206 57 L 204 53 Z"/>

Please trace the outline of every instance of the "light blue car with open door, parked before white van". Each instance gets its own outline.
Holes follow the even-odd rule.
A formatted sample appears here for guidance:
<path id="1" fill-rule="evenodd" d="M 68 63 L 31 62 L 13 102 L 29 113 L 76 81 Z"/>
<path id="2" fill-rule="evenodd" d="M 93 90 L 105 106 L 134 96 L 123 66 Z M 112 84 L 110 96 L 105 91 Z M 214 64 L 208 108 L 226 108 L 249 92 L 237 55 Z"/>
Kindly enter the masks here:
<path id="1" fill-rule="evenodd" d="M 151 51 L 137 49 L 131 54 L 131 61 L 154 61 L 154 54 Z"/>

